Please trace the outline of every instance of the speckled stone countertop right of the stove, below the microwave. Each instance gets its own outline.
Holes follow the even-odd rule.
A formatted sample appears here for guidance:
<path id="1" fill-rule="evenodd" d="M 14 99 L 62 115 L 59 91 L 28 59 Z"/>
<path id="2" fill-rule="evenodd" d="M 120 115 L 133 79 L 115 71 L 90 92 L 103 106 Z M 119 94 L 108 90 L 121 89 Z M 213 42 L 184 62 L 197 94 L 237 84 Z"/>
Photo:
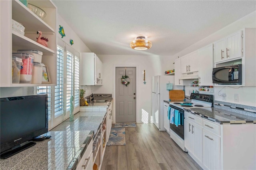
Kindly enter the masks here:
<path id="1" fill-rule="evenodd" d="M 256 117 L 242 115 L 239 113 L 227 111 L 224 109 L 218 109 L 215 107 L 205 108 L 189 108 L 185 109 L 188 112 L 200 115 L 203 118 L 209 119 L 219 124 L 256 124 Z"/>

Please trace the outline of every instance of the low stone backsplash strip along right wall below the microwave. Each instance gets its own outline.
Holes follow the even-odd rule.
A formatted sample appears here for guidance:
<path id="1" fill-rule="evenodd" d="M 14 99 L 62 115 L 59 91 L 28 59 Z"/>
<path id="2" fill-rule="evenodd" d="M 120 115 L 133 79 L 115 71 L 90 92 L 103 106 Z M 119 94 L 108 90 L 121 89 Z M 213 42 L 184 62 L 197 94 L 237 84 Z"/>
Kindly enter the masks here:
<path id="1" fill-rule="evenodd" d="M 236 103 L 228 103 L 223 101 L 214 101 L 214 107 L 224 109 L 227 111 L 232 111 L 235 113 L 240 113 L 243 115 L 256 117 L 256 107 L 253 106 L 240 105 Z"/>

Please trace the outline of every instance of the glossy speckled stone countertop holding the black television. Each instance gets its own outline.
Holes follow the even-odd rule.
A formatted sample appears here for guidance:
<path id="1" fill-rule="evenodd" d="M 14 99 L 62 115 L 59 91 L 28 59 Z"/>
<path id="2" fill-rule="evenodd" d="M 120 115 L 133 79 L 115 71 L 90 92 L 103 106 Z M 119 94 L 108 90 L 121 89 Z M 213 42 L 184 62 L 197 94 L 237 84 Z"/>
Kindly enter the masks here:
<path id="1" fill-rule="evenodd" d="M 52 137 L 7 159 L 0 159 L 1 170 L 67 169 L 78 162 L 87 147 L 88 137 L 94 138 L 106 111 L 78 112 L 48 132 Z M 89 140 L 90 142 L 90 140 Z"/>

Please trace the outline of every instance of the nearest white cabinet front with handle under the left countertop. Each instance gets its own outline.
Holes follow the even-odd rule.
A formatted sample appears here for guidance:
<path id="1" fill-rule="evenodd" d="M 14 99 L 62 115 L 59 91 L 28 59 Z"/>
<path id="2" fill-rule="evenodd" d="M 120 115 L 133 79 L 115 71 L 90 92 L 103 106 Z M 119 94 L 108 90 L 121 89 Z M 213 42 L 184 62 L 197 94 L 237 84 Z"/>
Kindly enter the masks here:
<path id="1" fill-rule="evenodd" d="M 86 148 L 82 158 L 78 162 L 76 166 L 76 170 L 92 170 L 93 168 L 93 155 L 92 155 L 92 143 L 93 140 L 90 141 L 89 145 Z"/>

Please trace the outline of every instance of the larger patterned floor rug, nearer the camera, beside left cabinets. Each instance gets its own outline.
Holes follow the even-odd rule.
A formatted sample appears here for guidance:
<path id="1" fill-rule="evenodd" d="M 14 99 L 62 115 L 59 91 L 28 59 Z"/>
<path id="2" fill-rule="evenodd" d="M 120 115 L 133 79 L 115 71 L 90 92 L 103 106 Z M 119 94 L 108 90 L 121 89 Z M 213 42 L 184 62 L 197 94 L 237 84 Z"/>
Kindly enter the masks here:
<path id="1" fill-rule="evenodd" d="M 107 146 L 125 145 L 125 128 L 111 128 Z"/>

